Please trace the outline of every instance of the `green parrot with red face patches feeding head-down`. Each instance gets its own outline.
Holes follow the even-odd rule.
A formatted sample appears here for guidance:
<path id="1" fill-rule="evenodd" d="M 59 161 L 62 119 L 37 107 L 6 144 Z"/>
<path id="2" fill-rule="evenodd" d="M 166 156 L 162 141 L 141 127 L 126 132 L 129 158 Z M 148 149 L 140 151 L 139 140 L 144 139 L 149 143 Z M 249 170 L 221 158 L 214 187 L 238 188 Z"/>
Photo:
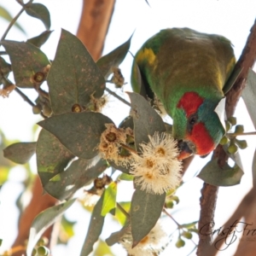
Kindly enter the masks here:
<path id="1" fill-rule="evenodd" d="M 224 136 L 224 93 L 235 64 L 229 39 L 189 28 L 161 30 L 137 51 L 132 89 L 143 87 L 166 108 L 179 159 L 209 154 Z"/>

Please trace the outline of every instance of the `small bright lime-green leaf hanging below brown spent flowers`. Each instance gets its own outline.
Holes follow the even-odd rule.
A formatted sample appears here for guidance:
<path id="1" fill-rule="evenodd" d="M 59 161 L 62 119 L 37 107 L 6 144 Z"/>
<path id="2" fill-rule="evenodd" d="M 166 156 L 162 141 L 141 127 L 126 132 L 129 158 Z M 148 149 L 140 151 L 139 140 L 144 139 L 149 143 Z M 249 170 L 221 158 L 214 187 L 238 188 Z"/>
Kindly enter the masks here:
<path id="1" fill-rule="evenodd" d="M 108 188 L 105 189 L 103 204 L 102 204 L 102 216 L 106 216 L 108 212 L 115 208 L 117 195 L 117 183 L 112 182 L 108 185 Z"/>

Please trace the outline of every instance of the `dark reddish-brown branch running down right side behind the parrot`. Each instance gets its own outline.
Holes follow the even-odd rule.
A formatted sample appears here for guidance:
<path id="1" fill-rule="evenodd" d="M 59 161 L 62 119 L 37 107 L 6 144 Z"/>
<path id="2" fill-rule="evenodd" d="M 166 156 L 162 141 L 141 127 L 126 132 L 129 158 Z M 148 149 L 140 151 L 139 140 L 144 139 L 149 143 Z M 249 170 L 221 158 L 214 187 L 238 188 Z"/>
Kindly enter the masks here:
<path id="1" fill-rule="evenodd" d="M 239 60 L 236 63 L 235 71 L 242 69 L 232 89 L 226 95 L 226 113 L 227 118 L 232 116 L 236 109 L 236 104 L 241 96 L 241 91 L 244 89 L 247 81 L 247 73 L 249 68 L 252 68 L 256 60 L 256 20 L 251 29 L 251 33 L 247 38 L 247 44 L 245 45 Z M 218 165 L 224 166 L 224 163 L 228 160 L 227 154 L 224 152 L 222 146 L 218 146 L 213 154 L 214 159 L 218 159 Z M 211 223 L 214 217 L 215 205 L 218 195 L 218 188 L 214 188 L 212 185 L 204 184 L 204 188 L 201 190 L 201 216 L 199 220 L 199 230 L 204 224 Z M 234 213 L 235 214 L 235 213 Z M 233 222 L 237 218 L 232 217 Z M 210 229 L 210 226 L 209 226 Z M 210 230 L 209 230 L 210 231 Z M 210 233 L 210 232 L 209 232 Z M 201 235 L 200 235 L 201 236 Z M 201 240 L 198 245 L 197 255 L 210 255 L 214 251 L 214 242 L 211 246 L 210 236 L 200 237 Z M 216 251 L 216 250 L 215 250 Z M 214 253 L 212 255 L 215 255 Z"/>

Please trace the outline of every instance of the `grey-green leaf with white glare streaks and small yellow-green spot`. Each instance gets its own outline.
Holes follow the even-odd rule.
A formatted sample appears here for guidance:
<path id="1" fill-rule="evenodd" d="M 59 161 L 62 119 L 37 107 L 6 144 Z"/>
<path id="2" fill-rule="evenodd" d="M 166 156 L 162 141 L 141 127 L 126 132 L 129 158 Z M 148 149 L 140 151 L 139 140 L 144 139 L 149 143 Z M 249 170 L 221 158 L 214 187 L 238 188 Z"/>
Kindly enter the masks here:
<path id="1" fill-rule="evenodd" d="M 59 200 L 70 198 L 78 189 L 91 183 L 107 168 L 106 160 L 95 157 L 92 160 L 74 160 L 65 170 L 44 185 L 45 191 L 49 195 Z"/>

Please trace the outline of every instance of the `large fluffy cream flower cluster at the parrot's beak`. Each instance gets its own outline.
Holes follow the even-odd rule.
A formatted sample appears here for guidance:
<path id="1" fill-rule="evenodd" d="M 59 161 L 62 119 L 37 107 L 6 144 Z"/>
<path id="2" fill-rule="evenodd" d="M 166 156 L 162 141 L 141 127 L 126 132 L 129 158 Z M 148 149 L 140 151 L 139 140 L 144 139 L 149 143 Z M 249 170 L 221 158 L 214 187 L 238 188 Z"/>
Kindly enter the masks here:
<path id="1" fill-rule="evenodd" d="M 177 160 L 177 143 L 167 133 L 149 136 L 149 142 L 140 144 L 141 154 L 134 155 L 131 174 L 141 189 L 162 194 L 180 183 L 181 162 Z"/>

